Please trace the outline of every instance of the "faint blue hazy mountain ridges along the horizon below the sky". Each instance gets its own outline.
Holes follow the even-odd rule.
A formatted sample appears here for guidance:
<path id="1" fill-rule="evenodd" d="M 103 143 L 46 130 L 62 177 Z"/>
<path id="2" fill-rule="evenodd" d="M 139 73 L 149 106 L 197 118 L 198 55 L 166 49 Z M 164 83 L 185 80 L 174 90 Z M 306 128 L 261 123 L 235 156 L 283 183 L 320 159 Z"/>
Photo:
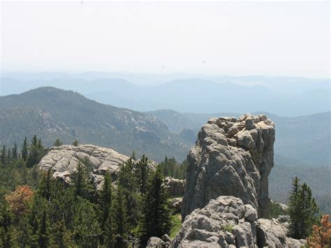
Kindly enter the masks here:
<path id="1" fill-rule="evenodd" d="M 7 73 L 1 77 L 3 96 L 53 86 L 137 111 L 272 112 L 294 117 L 330 110 L 330 79 L 96 72 Z"/>

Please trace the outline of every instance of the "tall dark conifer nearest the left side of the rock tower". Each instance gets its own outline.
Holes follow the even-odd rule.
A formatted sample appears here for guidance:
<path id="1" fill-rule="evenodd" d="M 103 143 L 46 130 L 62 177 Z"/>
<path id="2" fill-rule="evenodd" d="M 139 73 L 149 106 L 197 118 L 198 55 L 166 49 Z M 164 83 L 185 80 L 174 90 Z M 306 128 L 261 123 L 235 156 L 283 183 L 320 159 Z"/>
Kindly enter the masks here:
<path id="1" fill-rule="evenodd" d="M 142 244 L 150 237 L 161 238 L 170 231 L 170 210 L 167 205 L 167 191 L 163 185 L 161 168 L 157 168 L 149 182 L 142 218 Z"/>

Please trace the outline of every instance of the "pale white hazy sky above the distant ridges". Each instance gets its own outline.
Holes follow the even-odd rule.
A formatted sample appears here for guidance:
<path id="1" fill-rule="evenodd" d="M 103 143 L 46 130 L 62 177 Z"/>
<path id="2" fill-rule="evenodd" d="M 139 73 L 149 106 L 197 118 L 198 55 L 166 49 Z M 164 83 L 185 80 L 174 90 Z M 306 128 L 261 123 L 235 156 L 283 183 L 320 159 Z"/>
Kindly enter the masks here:
<path id="1" fill-rule="evenodd" d="M 329 78 L 330 3 L 1 1 L 1 68 Z"/>

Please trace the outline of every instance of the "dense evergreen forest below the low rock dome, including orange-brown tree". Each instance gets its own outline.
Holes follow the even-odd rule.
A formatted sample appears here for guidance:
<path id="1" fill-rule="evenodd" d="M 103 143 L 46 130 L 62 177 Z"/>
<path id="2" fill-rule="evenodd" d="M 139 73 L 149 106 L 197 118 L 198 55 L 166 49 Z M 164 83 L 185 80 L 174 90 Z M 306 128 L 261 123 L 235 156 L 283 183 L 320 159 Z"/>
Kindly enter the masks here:
<path id="1" fill-rule="evenodd" d="M 15 155 L 16 146 L 10 156 L 6 147 L 1 151 L 0 247 L 131 247 L 179 229 L 180 220 L 170 219 L 161 169 L 153 171 L 145 155 L 121 166 L 116 187 L 106 173 L 96 191 L 88 159 L 78 163 L 71 184 L 37 170 L 41 144 L 37 136 L 29 145 L 25 139 L 26 161 Z"/>

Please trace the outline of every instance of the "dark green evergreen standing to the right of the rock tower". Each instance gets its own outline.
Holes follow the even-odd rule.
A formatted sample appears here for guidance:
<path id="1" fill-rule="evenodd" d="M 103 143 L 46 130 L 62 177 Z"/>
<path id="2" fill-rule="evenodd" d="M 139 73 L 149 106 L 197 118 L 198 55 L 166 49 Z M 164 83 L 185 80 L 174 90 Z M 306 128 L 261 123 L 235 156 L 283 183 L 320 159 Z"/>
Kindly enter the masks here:
<path id="1" fill-rule="evenodd" d="M 292 185 L 288 207 L 290 235 L 295 239 L 307 238 L 318 221 L 318 207 L 307 184 L 301 186 L 295 177 Z"/>

